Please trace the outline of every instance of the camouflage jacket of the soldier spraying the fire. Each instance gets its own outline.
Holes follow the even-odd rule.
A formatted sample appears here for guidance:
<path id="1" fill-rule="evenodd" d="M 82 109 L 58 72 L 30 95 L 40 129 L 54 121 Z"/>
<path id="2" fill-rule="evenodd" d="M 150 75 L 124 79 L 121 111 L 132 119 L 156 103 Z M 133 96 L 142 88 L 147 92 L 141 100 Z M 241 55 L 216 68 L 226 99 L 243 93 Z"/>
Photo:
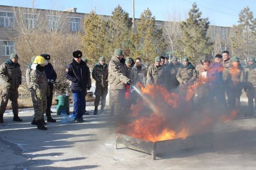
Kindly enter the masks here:
<path id="1" fill-rule="evenodd" d="M 109 86 L 110 90 L 125 89 L 125 84 L 130 81 L 126 76 L 125 67 L 119 59 L 113 56 L 109 62 Z"/>

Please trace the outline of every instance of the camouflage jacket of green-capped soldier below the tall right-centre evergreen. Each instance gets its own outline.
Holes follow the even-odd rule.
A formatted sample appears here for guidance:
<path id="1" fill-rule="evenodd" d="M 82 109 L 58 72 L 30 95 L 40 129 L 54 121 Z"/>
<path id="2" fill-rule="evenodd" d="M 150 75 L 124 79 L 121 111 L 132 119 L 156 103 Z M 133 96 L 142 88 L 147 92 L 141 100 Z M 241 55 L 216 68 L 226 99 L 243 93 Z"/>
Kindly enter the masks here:
<path id="1" fill-rule="evenodd" d="M 196 69 L 190 62 L 186 67 L 181 65 L 179 70 L 177 71 L 176 77 L 180 84 L 183 84 L 183 82 L 192 84 L 197 78 Z"/>

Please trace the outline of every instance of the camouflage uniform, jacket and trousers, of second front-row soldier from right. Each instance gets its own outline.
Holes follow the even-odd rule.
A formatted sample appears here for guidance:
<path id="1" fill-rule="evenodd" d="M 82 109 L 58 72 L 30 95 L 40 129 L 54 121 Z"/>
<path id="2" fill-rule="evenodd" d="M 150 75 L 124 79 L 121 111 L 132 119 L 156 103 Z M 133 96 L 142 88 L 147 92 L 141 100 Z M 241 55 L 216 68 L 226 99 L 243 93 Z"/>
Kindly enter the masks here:
<path id="1" fill-rule="evenodd" d="M 228 69 L 226 79 L 226 94 L 228 95 L 228 104 L 230 108 L 240 107 L 240 96 L 245 82 L 245 70 L 242 65 L 238 67 L 231 66 Z"/>

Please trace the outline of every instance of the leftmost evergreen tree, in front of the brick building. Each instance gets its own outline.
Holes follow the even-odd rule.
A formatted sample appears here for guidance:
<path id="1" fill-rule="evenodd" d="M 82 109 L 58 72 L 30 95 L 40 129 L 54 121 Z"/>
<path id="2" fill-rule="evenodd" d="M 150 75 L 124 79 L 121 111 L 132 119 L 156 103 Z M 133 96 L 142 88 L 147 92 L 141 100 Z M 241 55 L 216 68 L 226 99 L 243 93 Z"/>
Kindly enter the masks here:
<path id="1" fill-rule="evenodd" d="M 94 11 L 84 19 L 85 35 L 82 39 L 82 51 L 84 56 L 91 62 L 98 62 L 98 58 L 104 54 L 106 27 L 105 21 Z"/>

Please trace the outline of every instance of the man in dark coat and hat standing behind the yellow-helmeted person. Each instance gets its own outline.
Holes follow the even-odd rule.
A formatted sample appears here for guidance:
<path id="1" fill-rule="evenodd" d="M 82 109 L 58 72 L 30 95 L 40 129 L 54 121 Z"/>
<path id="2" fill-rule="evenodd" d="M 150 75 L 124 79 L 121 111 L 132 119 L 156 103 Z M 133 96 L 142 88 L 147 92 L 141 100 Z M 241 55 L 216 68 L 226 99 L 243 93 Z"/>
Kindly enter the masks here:
<path id="1" fill-rule="evenodd" d="M 49 96 L 47 96 L 47 108 L 46 108 L 47 118 L 46 119 L 47 119 L 47 122 L 56 122 L 56 120 L 54 120 L 51 117 L 51 106 L 52 106 L 52 96 L 53 96 L 53 84 L 55 84 L 55 81 L 57 79 L 57 74 L 53 69 L 52 64 L 49 63 L 51 56 L 49 54 L 41 54 L 40 56 L 46 59 L 46 66 L 44 67 L 44 73 L 46 73 L 47 83 L 50 90 Z"/>

